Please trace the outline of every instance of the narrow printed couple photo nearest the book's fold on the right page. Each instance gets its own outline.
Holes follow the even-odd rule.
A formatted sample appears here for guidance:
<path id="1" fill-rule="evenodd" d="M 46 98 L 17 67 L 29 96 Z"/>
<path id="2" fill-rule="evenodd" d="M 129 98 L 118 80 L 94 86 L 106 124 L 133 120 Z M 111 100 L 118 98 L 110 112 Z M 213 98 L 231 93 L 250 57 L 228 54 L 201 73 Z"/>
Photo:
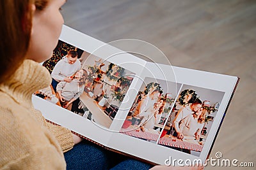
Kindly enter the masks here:
<path id="1" fill-rule="evenodd" d="M 120 132 L 156 143 L 180 87 L 171 81 L 145 78 Z"/>

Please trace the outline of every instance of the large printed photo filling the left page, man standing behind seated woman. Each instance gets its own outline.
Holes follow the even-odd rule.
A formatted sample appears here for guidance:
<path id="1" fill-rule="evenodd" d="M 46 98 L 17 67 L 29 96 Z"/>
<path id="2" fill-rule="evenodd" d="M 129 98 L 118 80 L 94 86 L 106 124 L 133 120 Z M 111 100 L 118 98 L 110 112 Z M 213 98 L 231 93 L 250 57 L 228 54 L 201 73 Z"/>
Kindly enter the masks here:
<path id="1" fill-rule="evenodd" d="M 109 128 L 134 73 L 63 41 L 44 62 L 52 83 L 36 96 Z"/>

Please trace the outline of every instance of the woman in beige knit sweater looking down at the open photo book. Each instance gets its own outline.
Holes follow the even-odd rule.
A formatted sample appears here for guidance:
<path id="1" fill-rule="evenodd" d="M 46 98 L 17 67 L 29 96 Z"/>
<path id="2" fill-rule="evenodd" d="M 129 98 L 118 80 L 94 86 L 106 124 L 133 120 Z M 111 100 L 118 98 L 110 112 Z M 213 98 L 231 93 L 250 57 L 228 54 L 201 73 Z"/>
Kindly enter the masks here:
<path id="1" fill-rule="evenodd" d="M 68 129 L 47 123 L 31 103 L 36 90 L 51 84 L 49 72 L 38 62 L 49 59 L 57 45 L 63 25 L 59 9 L 64 3 L 0 1 L 0 169 L 66 169 L 65 160 L 74 169 L 108 166 L 106 152 L 80 142 Z M 118 166 L 125 163 L 129 161 Z"/>

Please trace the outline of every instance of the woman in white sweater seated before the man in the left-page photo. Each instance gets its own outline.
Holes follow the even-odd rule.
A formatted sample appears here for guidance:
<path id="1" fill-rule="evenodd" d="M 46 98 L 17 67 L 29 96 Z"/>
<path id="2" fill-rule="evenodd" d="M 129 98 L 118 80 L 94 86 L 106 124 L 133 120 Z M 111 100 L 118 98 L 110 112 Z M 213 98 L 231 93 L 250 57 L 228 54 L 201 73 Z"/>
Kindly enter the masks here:
<path id="1" fill-rule="evenodd" d="M 63 108 L 67 108 L 67 110 L 71 111 L 72 102 L 76 101 L 76 99 L 83 94 L 84 83 L 87 76 L 87 71 L 80 69 L 76 72 L 70 83 L 67 81 L 60 81 L 60 83 L 58 83 L 56 90 Z"/>

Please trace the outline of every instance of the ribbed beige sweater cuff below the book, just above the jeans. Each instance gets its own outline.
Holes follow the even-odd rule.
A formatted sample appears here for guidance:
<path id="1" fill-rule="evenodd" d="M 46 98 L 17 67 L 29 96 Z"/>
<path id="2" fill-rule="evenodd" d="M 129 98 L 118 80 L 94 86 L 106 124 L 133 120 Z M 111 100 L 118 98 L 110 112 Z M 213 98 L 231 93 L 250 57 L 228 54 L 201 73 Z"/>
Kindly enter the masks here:
<path id="1" fill-rule="evenodd" d="M 74 138 L 72 132 L 60 125 L 54 125 L 46 122 L 46 127 L 54 134 L 57 141 L 60 143 L 63 152 L 71 150 L 74 146 Z"/>

